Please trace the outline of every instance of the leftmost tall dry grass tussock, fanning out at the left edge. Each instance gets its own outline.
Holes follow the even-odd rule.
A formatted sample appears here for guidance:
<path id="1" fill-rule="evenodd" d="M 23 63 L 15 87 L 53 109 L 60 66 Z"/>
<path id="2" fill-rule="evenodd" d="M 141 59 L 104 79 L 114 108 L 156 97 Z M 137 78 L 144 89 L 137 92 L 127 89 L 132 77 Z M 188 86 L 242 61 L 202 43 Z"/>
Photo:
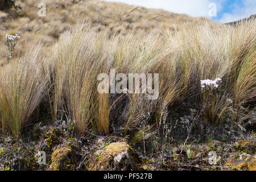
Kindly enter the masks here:
<path id="1" fill-rule="evenodd" d="M 30 122 L 32 114 L 48 90 L 47 74 L 43 70 L 42 51 L 36 43 L 19 60 L 1 68 L 0 115 L 3 132 L 9 129 L 15 138 Z M 35 118 L 34 118 L 35 119 Z"/>

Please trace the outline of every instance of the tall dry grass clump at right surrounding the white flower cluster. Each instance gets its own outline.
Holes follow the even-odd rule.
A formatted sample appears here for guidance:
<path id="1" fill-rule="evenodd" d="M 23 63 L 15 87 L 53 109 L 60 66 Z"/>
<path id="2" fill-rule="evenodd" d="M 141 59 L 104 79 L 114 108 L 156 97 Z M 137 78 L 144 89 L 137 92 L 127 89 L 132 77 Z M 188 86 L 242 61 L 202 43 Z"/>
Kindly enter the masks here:
<path id="1" fill-rule="evenodd" d="M 170 40 L 181 46 L 176 59 L 181 98 L 201 106 L 211 123 L 218 123 L 228 110 L 236 115 L 238 107 L 255 101 L 254 23 L 251 20 L 238 27 L 212 28 L 205 22 L 175 35 L 167 32 Z M 216 77 L 223 81 L 217 93 L 200 91 L 200 80 Z"/>

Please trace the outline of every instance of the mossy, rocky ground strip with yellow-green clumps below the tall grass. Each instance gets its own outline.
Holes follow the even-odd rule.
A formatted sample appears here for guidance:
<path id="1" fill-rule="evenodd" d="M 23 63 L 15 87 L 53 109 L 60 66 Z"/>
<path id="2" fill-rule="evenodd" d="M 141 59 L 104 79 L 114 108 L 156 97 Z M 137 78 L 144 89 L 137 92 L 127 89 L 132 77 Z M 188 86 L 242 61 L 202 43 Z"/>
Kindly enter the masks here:
<path id="1" fill-rule="evenodd" d="M 68 126 L 66 127 L 68 128 Z M 128 150 L 137 170 L 253 170 L 256 167 L 255 134 L 238 140 L 208 138 L 188 140 L 187 143 L 162 143 L 146 141 L 146 156 L 143 145 L 131 143 L 129 138 L 87 137 L 80 138 L 60 126 L 40 126 L 40 132 L 16 140 L 6 133 L 0 139 L 1 170 L 115 170 L 114 157 Z M 35 134 L 36 133 L 36 134 Z M 37 135 L 37 136 L 35 136 Z M 46 151 L 46 165 L 39 165 L 36 153 Z M 149 152 L 151 151 L 151 152 Z M 209 164 L 209 153 L 216 152 L 216 164 Z M 246 156 L 242 158 L 241 156 Z M 103 168 L 102 168 L 103 166 Z M 132 169 L 128 167 L 126 169 Z"/>

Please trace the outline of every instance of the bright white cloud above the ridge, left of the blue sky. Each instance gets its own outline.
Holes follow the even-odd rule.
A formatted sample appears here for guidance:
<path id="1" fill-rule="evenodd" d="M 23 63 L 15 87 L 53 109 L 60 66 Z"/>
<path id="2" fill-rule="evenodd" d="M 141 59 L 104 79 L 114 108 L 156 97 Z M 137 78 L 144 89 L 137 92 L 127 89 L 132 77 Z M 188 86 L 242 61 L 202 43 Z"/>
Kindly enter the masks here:
<path id="1" fill-rule="evenodd" d="M 208 16 L 210 0 L 105 0 L 123 2 L 129 5 L 147 8 L 163 9 L 172 13 L 187 14 L 189 16 Z"/>

